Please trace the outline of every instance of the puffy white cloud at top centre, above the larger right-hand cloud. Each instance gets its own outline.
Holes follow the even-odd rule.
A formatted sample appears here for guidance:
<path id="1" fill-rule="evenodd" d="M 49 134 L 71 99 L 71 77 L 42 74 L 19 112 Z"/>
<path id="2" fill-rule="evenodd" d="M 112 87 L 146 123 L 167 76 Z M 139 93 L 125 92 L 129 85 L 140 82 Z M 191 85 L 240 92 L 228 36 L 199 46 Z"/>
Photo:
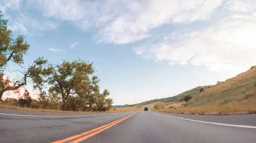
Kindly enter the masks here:
<path id="1" fill-rule="evenodd" d="M 148 32 L 163 24 L 208 20 L 221 2 L 148 0 L 125 3 L 127 11 L 120 11 L 122 15 L 117 15 L 116 19 L 100 30 L 99 42 L 126 44 L 151 36 Z"/>

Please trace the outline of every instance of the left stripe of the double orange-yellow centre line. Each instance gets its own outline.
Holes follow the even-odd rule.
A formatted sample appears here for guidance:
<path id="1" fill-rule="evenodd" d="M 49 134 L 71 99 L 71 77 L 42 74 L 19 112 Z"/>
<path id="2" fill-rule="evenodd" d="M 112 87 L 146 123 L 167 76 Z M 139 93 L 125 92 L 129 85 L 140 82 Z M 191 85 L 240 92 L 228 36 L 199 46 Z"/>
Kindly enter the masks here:
<path id="1" fill-rule="evenodd" d="M 136 113 L 137 113 L 137 112 L 136 112 Z M 104 125 L 104 126 L 100 126 L 100 127 L 96 128 L 96 129 L 92 129 L 92 130 L 90 130 L 90 131 L 81 133 L 81 134 L 79 134 L 79 135 L 74 135 L 74 136 L 72 136 L 72 137 L 65 138 L 64 140 L 58 140 L 58 141 L 55 141 L 55 142 L 52 142 L 52 143 L 64 143 L 64 142 L 67 142 L 67 141 L 76 139 L 76 138 L 78 138 L 78 137 L 81 137 L 81 136 L 90 134 L 90 133 L 92 133 L 92 132 L 95 132 L 95 131 L 97 131 L 97 130 L 99 130 L 99 129 L 102 129 L 102 128 L 111 126 L 111 125 L 113 125 L 114 123 L 116 124 L 117 122 L 119 123 L 119 122 L 121 122 L 121 121 L 124 121 L 125 119 L 131 117 L 132 115 L 134 115 L 134 114 L 136 114 L 136 113 L 133 113 L 133 114 L 128 115 L 128 116 L 125 116 L 124 118 L 121 118 L 121 119 L 119 119 L 119 120 L 113 121 L 113 122 L 108 123 L 108 124 L 106 124 L 106 125 Z M 96 135 L 96 134 L 94 134 L 94 135 Z"/>

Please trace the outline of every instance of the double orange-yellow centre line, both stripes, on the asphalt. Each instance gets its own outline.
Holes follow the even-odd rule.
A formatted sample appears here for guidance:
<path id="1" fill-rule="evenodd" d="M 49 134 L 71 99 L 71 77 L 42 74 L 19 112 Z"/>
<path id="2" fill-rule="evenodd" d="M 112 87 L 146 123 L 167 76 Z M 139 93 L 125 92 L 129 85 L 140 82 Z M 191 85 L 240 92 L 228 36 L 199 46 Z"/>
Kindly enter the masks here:
<path id="1" fill-rule="evenodd" d="M 137 113 L 137 112 L 136 112 L 136 113 Z M 99 128 L 92 129 L 92 130 L 90 130 L 90 131 L 81 133 L 81 134 L 79 134 L 79 135 L 74 135 L 74 136 L 72 136 L 72 137 L 65 138 L 64 140 L 58 140 L 58 141 L 55 141 L 55 142 L 52 142 L 52 143 L 65 143 L 65 142 L 70 141 L 70 140 L 73 140 L 73 141 L 70 141 L 70 142 L 68 142 L 68 143 L 79 143 L 79 142 L 81 142 L 81 141 L 83 141 L 83 140 L 86 140 L 86 139 L 89 138 L 89 137 L 92 137 L 92 136 L 94 136 L 94 135 L 96 135 L 96 134 L 98 134 L 98 133 L 104 131 L 105 129 L 110 128 L 111 126 L 116 125 L 117 123 L 120 123 L 120 122 L 124 121 L 125 119 L 131 117 L 132 115 L 134 115 L 134 114 L 136 114 L 136 113 L 133 113 L 133 114 L 128 115 L 128 116 L 126 116 L 126 117 L 124 117 L 124 118 L 122 118 L 122 119 L 119 119 L 119 120 L 113 121 L 113 122 L 111 122 L 111 123 L 108 123 L 108 124 L 106 124 L 106 125 L 104 125 L 104 126 L 100 126 Z M 95 132 L 95 131 L 96 131 L 96 132 Z M 76 138 L 77 138 L 77 139 L 76 139 Z M 74 139 L 76 139 L 76 140 L 74 140 Z"/>

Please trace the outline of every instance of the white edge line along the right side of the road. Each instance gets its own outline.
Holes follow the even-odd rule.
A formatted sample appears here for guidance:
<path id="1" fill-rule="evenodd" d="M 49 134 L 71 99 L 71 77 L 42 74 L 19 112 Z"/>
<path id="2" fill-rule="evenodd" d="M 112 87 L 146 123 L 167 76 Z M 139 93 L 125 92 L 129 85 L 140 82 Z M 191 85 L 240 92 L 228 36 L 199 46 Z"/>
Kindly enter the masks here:
<path id="1" fill-rule="evenodd" d="M 155 112 L 151 112 L 154 114 L 159 114 Z M 159 114 L 159 115 L 164 115 L 164 114 Z M 172 118 L 178 118 L 178 119 L 183 119 L 183 120 L 188 120 L 188 121 L 194 121 L 194 122 L 201 122 L 201 123 L 210 123 L 210 124 L 215 124 L 215 125 L 222 125 L 222 126 L 234 126 L 234 127 L 241 127 L 241 128 L 253 128 L 256 129 L 256 126 L 247 126 L 247 125 L 232 125 L 232 124 L 227 124 L 227 123 L 215 123 L 215 122 L 205 122 L 205 121 L 198 121 L 198 120 L 191 120 L 191 119 L 186 119 L 186 118 L 180 118 L 180 117 L 175 117 L 175 116 L 170 116 L 170 115 L 164 115 Z"/>

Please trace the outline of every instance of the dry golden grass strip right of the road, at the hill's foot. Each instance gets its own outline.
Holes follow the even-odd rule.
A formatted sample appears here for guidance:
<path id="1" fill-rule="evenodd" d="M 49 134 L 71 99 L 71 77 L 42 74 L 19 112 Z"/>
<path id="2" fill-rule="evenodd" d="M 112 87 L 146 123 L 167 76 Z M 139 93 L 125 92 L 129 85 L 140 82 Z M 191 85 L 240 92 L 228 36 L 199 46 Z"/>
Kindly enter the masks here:
<path id="1" fill-rule="evenodd" d="M 241 102 L 232 102 L 224 105 L 202 107 L 174 107 L 154 110 L 157 112 L 198 114 L 198 115 L 243 115 L 256 114 L 256 96 Z"/>

